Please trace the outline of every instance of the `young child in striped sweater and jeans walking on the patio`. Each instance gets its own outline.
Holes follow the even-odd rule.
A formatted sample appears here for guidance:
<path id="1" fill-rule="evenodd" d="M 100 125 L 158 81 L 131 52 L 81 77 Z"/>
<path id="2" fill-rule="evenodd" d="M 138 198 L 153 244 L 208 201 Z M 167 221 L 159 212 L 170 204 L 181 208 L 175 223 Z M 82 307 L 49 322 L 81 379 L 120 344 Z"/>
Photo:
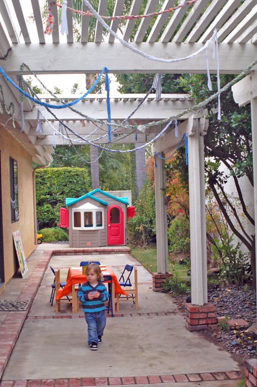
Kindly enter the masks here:
<path id="1" fill-rule="evenodd" d="M 88 265 L 85 275 L 88 281 L 80 286 L 78 299 L 82 303 L 88 324 L 88 344 L 92 351 L 97 351 L 106 325 L 104 302 L 108 300 L 108 292 L 105 284 L 101 282 L 102 274 L 98 264 Z"/>

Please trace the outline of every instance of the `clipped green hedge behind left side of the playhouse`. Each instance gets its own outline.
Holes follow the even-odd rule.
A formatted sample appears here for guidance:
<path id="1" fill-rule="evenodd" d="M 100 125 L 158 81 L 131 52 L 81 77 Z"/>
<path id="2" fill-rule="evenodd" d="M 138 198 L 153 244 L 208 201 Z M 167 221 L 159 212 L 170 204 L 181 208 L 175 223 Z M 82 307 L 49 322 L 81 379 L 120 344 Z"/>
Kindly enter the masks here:
<path id="1" fill-rule="evenodd" d="M 60 222 L 60 207 L 65 198 L 79 198 L 91 190 L 84 168 L 42 168 L 35 172 L 36 214 L 39 228 L 55 227 Z"/>

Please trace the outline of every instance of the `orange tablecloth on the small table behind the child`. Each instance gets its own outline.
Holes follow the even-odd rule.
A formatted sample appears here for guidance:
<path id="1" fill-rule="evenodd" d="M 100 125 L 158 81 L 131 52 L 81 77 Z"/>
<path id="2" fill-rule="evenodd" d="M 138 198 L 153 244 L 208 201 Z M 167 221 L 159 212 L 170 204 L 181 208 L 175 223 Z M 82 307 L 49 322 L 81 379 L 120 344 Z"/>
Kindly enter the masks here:
<path id="1" fill-rule="evenodd" d="M 100 267 L 101 267 L 103 276 L 111 275 L 112 281 L 114 282 L 114 285 L 115 285 L 115 295 L 123 294 L 126 296 L 126 292 L 120 286 L 118 279 L 114 274 L 112 268 L 109 266 L 103 266 L 103 265 L 100 265 Z M 85 281 L 87 281 L 87 277 L 84 274 L 82 274 L 82 267 L 69 267 L 66 285 L 62 289 L 58 290 L 56 295 L 56 300 L 60 300 L 62 297 L 67 296 L 69 293 L 71 293 L 72 285 L 76 283 L 83 283 Z"/>

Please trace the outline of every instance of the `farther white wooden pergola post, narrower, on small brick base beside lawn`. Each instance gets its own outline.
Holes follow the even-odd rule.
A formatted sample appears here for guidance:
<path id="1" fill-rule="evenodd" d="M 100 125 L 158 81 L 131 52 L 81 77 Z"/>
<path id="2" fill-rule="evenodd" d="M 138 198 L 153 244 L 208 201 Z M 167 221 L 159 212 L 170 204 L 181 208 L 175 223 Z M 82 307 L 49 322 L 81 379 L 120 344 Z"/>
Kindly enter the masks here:
<path id="1" fill-rule="evenodd" d="M 162 158 L 165 157 L 161 153 Z M 168 236 L 167 236 L 167 210 L 166 210 L 166 179 L 165 160 L 155 157 L 155 212 L 156 212 L 156 244 L 157 244 L 157 272 L 168 273 Z"/>

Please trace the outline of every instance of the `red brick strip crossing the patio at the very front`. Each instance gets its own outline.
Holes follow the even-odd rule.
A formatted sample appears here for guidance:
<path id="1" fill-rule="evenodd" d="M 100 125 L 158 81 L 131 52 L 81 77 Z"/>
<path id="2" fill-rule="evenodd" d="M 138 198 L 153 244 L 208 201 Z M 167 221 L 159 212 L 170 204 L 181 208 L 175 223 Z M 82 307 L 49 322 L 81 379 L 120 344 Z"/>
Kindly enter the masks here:
<path id="1" fill-rule="evenodd" d="M 72 379 L 35 379 L 4 380 L 0 387 L 81 387 L 91 385 L 127 385 L 180 383 L 211 380 L 238 380 L 242 377 L 239 371 L 185 373 L 174 375 L 121 376 L 121 377 L 82 377 Z"/>

